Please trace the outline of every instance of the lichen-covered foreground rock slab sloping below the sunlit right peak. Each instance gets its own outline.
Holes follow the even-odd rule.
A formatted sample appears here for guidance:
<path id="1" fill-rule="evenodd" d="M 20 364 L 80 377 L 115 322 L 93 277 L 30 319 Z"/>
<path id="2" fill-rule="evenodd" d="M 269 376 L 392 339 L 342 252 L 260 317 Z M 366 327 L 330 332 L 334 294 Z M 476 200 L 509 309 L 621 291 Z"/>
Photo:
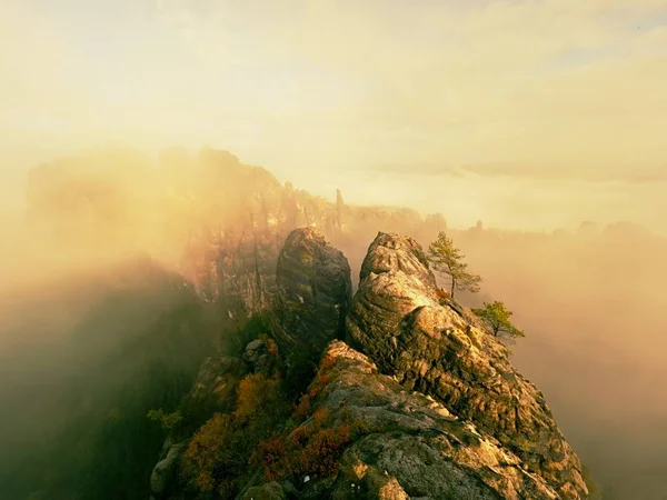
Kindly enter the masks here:
<path id="1" fill-rule="evenodd" d="M 434 398 L 380 373 L 342 341 L 328 347 L 311 388 L 316 386 L 313 417 L 286 440 L 307 433 L 322 413 L 332 416 L 329 429 L 351 424 L 358 430 L 339 457 L 337 472 L 302 481 L 300 499 L 563 498 L 497 439 L 452 416 Z M 281 494 L 276 483 L 269 484 L 262 487 L 267 493 Z M 263 490 L 249 489 L 242 498 L 251 498 L 250 491 Z"/>

